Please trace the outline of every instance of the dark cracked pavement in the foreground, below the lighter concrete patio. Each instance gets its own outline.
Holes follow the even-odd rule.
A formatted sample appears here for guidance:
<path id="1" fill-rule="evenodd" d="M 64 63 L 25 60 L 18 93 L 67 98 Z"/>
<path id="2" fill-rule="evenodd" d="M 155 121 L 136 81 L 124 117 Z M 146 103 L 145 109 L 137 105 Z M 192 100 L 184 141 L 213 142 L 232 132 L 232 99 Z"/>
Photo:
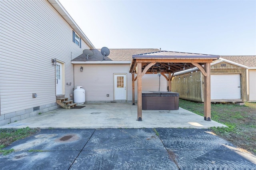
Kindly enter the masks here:
<path id="1" fill-rule="evenodd" d="M 42 129 L 11 148 L 2 170 L 256 169 L 256 156 L 207 129 Z"/>

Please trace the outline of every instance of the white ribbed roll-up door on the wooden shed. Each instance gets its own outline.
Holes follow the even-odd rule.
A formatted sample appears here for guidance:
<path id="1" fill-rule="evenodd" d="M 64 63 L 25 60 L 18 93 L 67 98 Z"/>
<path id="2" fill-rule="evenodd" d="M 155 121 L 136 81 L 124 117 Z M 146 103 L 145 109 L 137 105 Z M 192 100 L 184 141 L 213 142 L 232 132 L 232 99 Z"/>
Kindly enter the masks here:
<path id="1" fill-rule="evenodd" d="M 241 99 L 240 74 L 211 75 L 211 99 Z"/>

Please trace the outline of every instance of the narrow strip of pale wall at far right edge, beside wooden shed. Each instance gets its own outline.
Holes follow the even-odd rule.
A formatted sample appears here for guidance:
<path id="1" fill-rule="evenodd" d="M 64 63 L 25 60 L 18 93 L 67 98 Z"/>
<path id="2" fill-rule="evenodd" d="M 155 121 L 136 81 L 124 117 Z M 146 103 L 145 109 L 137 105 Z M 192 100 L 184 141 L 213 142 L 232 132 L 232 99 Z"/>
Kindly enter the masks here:
<path id="1" fill-rule="evenodd" d="M 249 70 L 249 100 L 256 101 L 256 70 Z"/>

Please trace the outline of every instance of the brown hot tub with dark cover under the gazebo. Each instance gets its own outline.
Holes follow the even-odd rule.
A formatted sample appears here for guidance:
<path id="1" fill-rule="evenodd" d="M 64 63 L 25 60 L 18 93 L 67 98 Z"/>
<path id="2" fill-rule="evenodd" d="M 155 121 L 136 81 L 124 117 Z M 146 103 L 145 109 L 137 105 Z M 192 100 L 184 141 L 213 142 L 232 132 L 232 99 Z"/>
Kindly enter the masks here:
<path id="1" fill-rule="evenodd" d="M 178 110 L 179 93 L 142 92 L 142 110 Z"/>

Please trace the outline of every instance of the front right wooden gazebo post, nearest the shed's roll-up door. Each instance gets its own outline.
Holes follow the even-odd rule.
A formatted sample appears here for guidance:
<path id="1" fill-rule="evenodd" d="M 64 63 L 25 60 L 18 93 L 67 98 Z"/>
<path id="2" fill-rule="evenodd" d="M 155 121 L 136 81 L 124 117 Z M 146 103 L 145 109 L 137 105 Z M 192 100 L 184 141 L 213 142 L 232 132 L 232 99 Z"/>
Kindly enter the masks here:
<path id="1" fill-rule="evenodd" d="M 204 120 L 211 121 L 211 65 L 210 63 L 204 63 L 204 70 L 206 76 L 204 76 Z"/>

